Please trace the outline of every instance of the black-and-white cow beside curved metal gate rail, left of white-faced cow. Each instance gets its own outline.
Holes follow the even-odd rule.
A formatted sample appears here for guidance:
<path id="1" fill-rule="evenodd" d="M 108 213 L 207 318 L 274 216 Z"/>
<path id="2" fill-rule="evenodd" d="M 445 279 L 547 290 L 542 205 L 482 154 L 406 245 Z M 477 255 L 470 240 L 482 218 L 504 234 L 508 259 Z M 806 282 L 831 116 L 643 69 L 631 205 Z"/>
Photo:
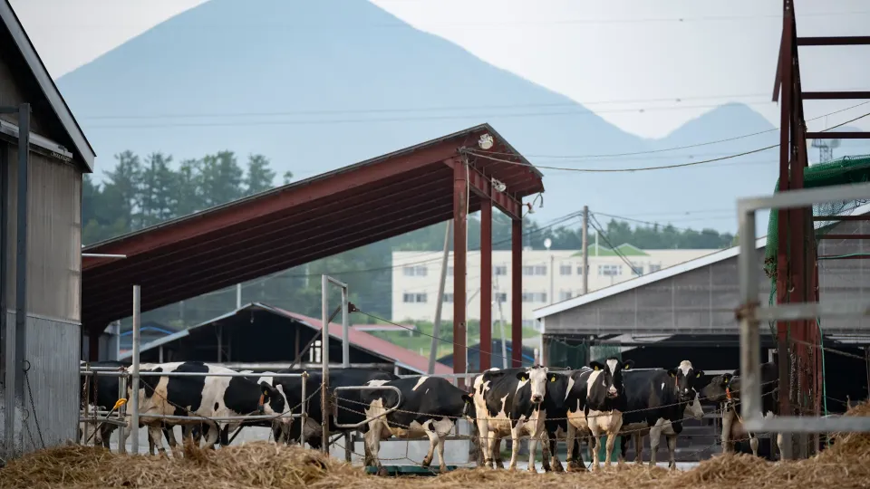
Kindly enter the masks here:
<path id="1" fill-rule="evenodd" d="M 423 458 L 422 465 L 428 467 L 437 450 L 440 470 L 446 472 L 444 438 L 453 430 L 456 419 L 474 417 L 471 395 L 440 377 L 370 380 L 366 385 L 398 388 L 401 401 L 392 389 L 362 391 L 365 415 L 371 419 L 365 431 L 366 455 L 369 455 L 365 465 L 376 466 L 379 471 L 382 469 L 378 459 L 382 439 L 428 436 L 429 453 Z M 399 410 L 383 414 L 393 407 Z"/>

